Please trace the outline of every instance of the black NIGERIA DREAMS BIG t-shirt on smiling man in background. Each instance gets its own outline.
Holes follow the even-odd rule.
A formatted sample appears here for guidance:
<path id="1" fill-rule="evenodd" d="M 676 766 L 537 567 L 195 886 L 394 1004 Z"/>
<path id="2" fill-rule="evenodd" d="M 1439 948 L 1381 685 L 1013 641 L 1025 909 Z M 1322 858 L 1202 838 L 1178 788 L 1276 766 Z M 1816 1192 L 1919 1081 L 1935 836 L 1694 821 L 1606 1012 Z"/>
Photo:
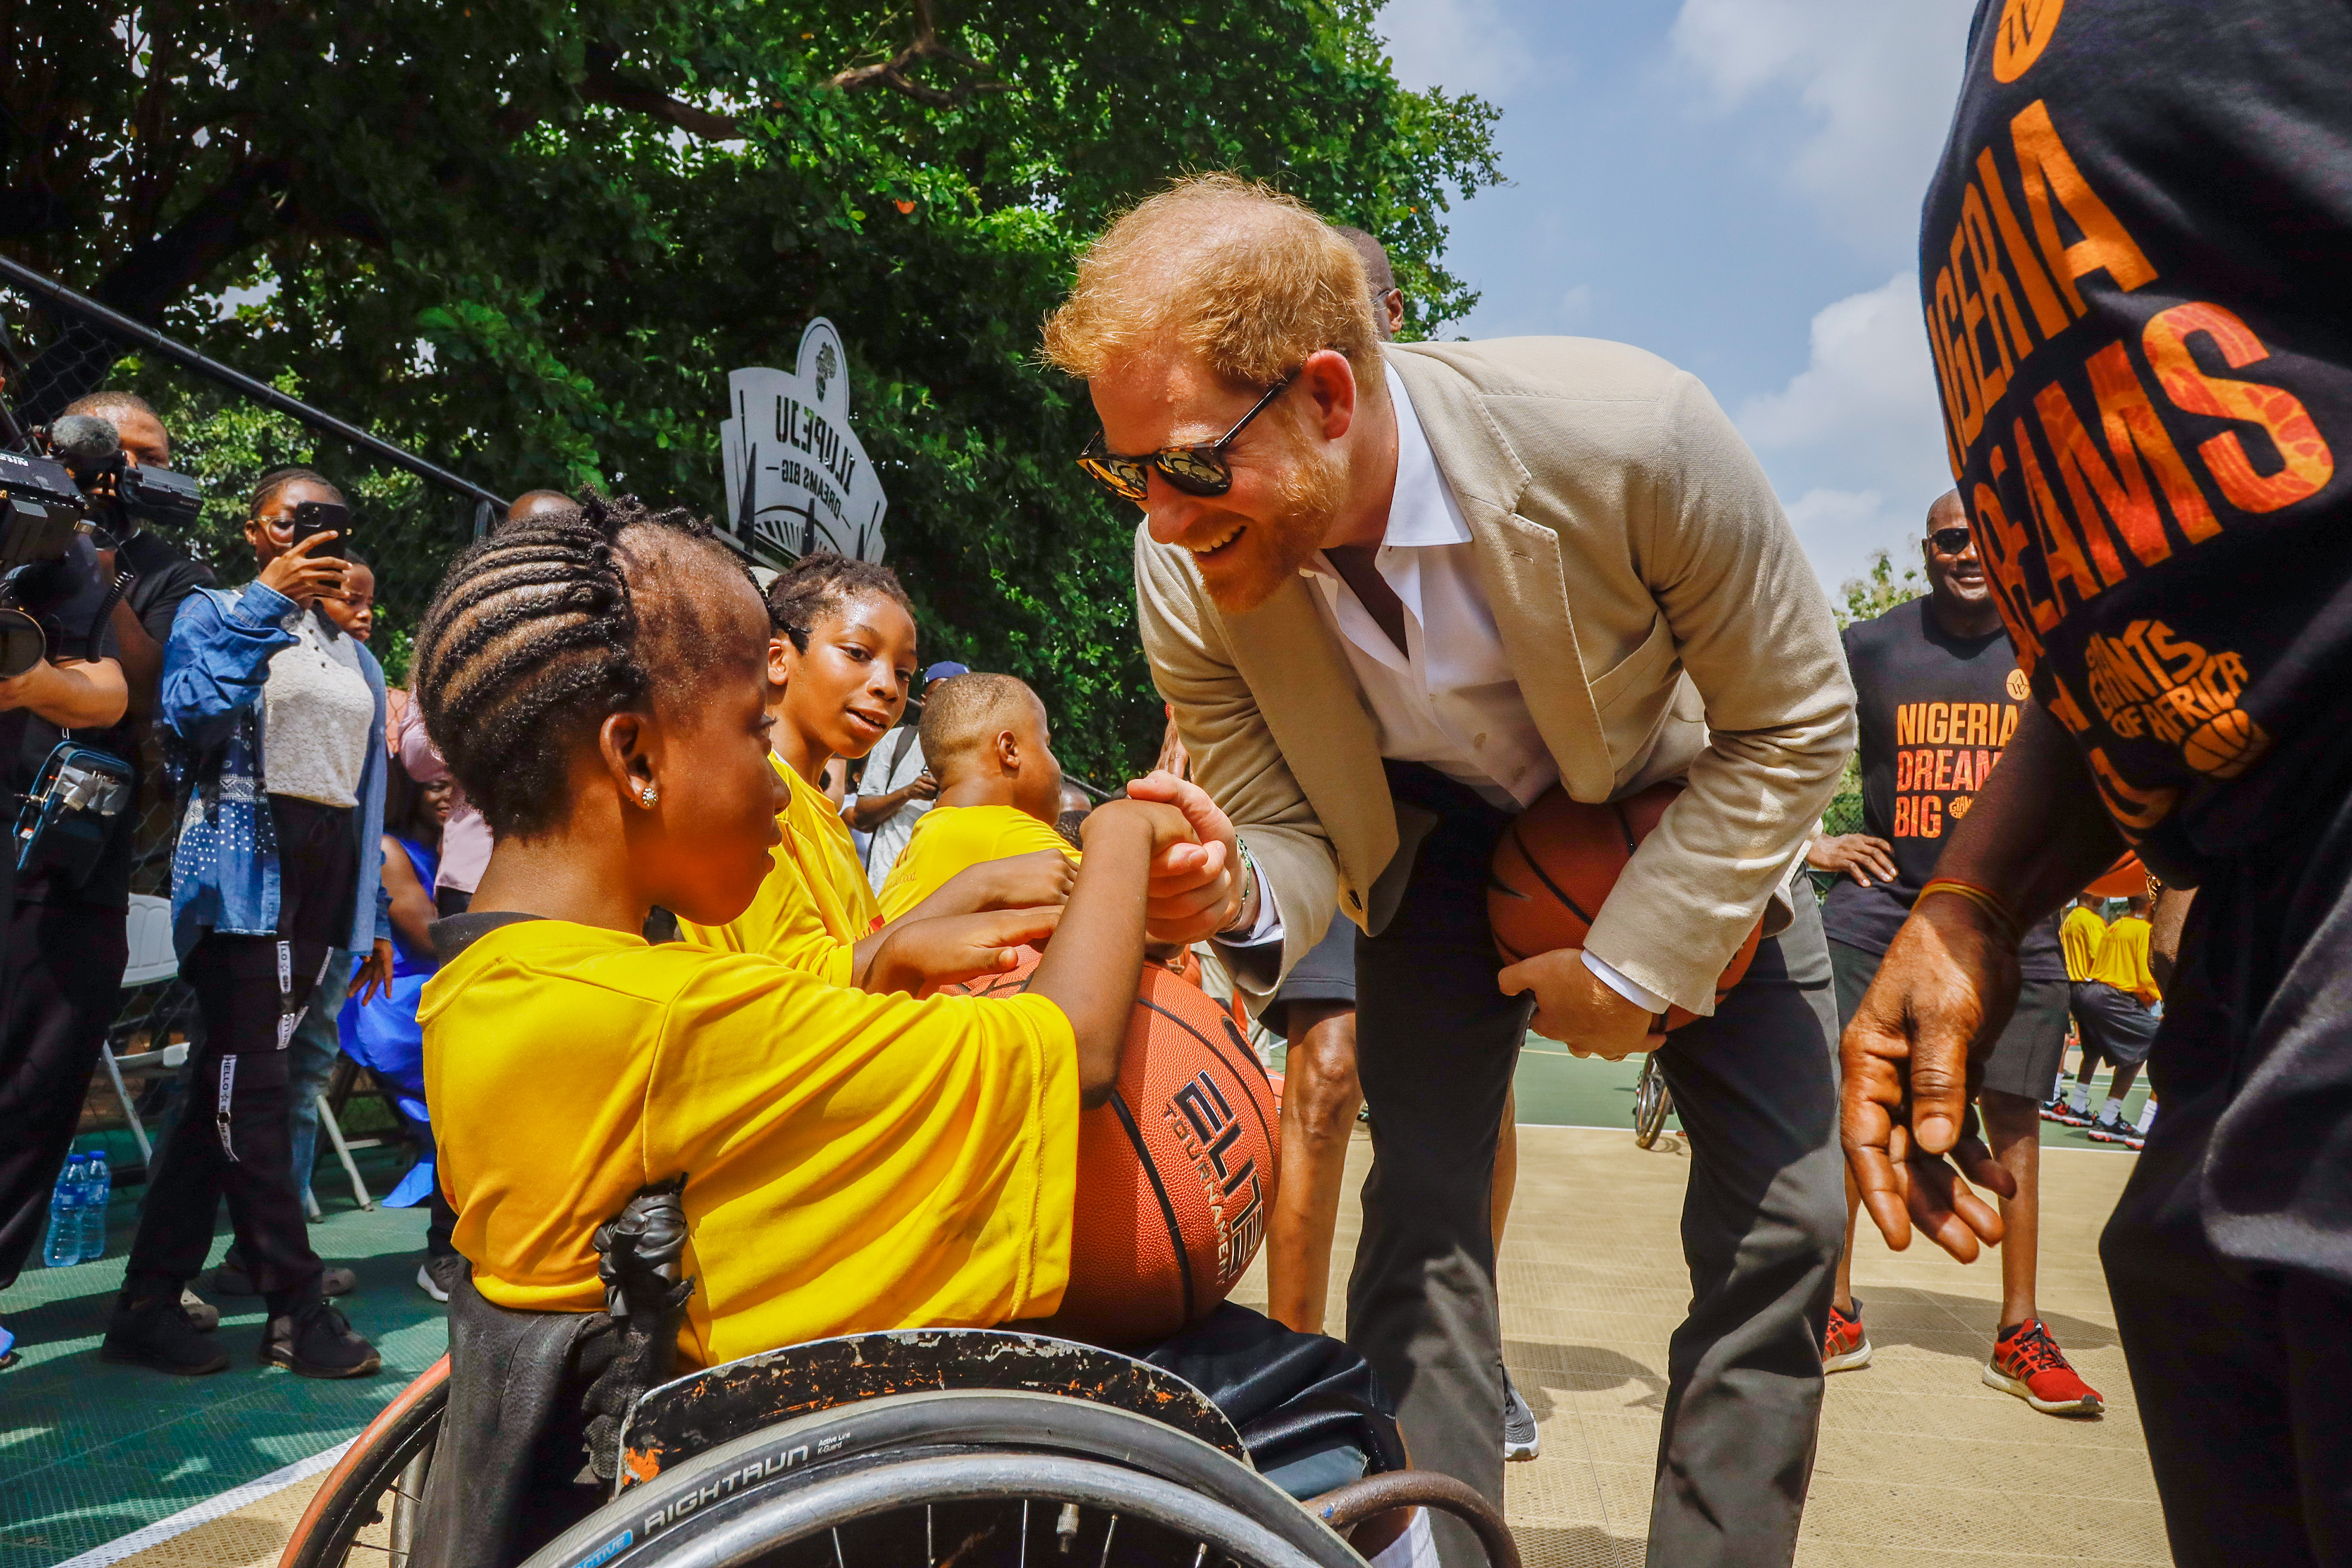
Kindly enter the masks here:
<path id="1" fill-rule="evenodd" d="M 1844 642 L 1863 731 L 1863 832 L 1893 846 L 1896 879 L 1860 886 L 1839 875 L 1820 924 L 1832 943 L 1886 952 L 2030 689 L 2006 635 L 1952 637 L 1926 599 L 1849 625 Z M 2018 966 L 2027 980 L 2065 980 L 2056 919 L 2025 933 Z"/>

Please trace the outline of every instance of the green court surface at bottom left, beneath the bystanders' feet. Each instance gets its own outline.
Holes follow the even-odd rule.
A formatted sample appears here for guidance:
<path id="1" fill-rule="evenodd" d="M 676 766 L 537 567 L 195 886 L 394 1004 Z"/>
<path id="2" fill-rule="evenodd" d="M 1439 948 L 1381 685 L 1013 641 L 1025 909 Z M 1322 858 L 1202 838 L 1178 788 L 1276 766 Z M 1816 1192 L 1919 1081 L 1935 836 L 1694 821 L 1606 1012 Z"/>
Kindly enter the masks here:
<path id="1" fill-rule="evenodd" d="M 360 1171 L 381 1197 L 400 1159 L 367 1150 Z M 327 1218 L 310 1227 L 310 1244 L 360 1276 L 358 1293 L 339 1305 L 383 1354 L 374 1378 L 318 1382 L 263 1368 L 254 1356 L 259 1298 L 207 1295 L 223 1309 L 216 1335 L 230 1356 L 226 1373 L 167 1378 L 99 1361 L 136 1225 L 136 1187 L 115 1194 L 106 1258 L 71 1269 L 45 1269 L 35 1258 L 0 1293 L 0 1321 L 24 1356 L 0 1373 L 0 1568 L 52 1568 L 334 1448 L 442 1354 L 442 1309 L 416 1288 L 426 1211 L 355 1208 L 332 1157 L 320 1164 L 315 1192 Z M 212 1260 L 226 1248 L 223 1215 Z"/>

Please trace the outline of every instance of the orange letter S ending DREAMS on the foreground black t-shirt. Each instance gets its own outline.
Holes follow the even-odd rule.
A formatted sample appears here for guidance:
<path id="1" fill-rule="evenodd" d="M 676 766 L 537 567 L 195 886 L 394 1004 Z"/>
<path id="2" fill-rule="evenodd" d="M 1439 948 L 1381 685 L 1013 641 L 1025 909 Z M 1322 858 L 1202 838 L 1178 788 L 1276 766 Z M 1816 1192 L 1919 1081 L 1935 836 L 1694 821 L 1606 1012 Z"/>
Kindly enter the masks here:
<path id="1" fill-rule="evenodd" d="M 2201 301 L 2173 306 L 2140 329 L 2147 362 L 2176 407 L 2263 425 L 2270 444 L 2279 449 L 2277 473 L 2265 475 L 2256 473 L 2246 442 L 2234 430 L 2204 442 L 2197 454 L 2204 456 L 2220 494 L 2241 512 L 2277 512 L 2317 494 L 2336 475 L 2336 454 L 2312 423 L 2310 409 L 2281 386 L 2209 376 L 2190 353 L 2190 339 L 2197 334 L 2220 350 L 2230 369 L 2267 360 L 2270 350 L 2234 313 Z"/>

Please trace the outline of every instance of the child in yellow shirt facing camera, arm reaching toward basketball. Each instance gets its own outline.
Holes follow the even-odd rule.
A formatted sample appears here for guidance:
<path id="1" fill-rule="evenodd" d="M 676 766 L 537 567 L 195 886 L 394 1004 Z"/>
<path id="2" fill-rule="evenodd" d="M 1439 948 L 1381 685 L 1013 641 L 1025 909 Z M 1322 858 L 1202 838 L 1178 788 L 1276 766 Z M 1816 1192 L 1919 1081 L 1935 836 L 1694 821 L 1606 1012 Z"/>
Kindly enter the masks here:
<path id="1" fill-rule="evenodd" d="M 915 675 L 915 616 L 889 567 L 833 552 L 800 557 L 767 588 L 769 766 L 788 792 L 783 842 L 760 896 L 731 922 L 680 917 L 684 940 L 724 952 L 764 952 L 830 985 L 866 985 L 884 931 L 866 867 L 840 809 L 823 790 L 826 764 L 863 757 L 906 710 Z M 941 879 L 889 922 L 1058 905 L 1070 867 L 1049 863 L 976 867 Z"/>

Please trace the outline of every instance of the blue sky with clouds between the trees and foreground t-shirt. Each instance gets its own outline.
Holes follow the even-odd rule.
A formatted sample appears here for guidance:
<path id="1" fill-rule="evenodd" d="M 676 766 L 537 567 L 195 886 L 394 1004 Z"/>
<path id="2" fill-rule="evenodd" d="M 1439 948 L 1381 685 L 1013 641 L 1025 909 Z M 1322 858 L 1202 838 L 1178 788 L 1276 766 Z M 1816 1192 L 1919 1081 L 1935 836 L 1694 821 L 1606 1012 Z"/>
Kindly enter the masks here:
<path id="1" fill-rule="evenodd" d="M 1409 87 L 1503 110 L 1451 214 L 1461 336 L 1637 343 L 1700 376 L 1837 588 L 1950 470 L 1917 223 L 1973 0 L 1390 0 Z"/>

